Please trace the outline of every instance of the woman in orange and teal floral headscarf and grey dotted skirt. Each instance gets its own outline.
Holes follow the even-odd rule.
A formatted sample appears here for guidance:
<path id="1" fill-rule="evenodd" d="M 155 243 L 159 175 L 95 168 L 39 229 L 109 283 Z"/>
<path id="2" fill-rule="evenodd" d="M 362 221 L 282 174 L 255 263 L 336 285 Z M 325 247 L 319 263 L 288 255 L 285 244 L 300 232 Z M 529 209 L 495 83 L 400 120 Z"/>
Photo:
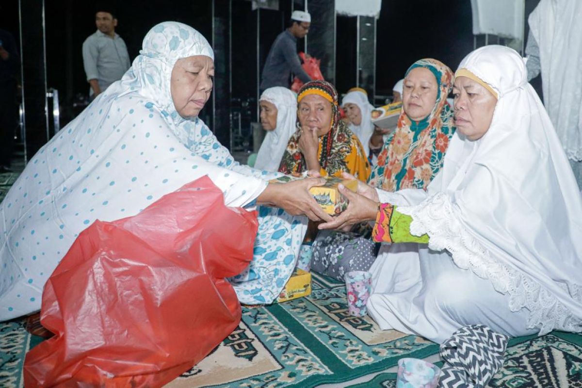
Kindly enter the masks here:
<path id="1" fill-rule="evenodd" d="M 381 147 L 370 175 L 371 186 L 386 191 L 425 190 L 437 175 L 455 133 L 453 113 L 446 102 L 452 77 L 449 67 L 436 59 L 417 60 L 407 70 L 398 127 L 385 143 L 379 129 L 370 141 L 372 150 Z M 374 143 L 376 140 L 380 145 Z M 319 233 L 311 268 L 339 280 L 350 270 L 370 269 L 377 252 L 370 234 L 368 225 L 352 233 Z M 338 251 L 342 254 L 331 254 Z"/>

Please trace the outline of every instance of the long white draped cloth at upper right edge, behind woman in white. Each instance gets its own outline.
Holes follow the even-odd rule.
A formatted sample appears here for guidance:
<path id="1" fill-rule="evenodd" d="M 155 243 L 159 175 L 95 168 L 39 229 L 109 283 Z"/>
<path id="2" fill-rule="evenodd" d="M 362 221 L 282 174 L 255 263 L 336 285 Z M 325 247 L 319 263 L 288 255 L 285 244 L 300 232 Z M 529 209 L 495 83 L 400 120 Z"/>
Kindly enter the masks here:
<path id="1" fill-rule="evenodd" d="M 582 2 L 541 0 L 530 14 L 540 48 L 542 90 L 566 155 L 582 161 Z"/>

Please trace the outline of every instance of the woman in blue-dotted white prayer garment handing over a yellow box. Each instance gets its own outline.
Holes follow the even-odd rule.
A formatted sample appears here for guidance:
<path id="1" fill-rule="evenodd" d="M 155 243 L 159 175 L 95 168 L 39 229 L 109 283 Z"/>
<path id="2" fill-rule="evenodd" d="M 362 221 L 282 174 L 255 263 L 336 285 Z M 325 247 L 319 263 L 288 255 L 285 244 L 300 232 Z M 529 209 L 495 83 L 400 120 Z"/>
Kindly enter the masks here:
<path id="1" fill-rule="evenodd" d="M 279 175 L 239 165 L 197 117 L 213 58 L 193 28 L 158 24 L 123 78 L 31 158 L 0 205 L 0 321 L 40 308 L 44 283 L 95 219 L 134 215 L 201 176 L 227 206 L 329 219 L 306 190 L 320 180 L 268 184 Z M 283 209 L 259 208 L 253 261 L 231 279 L 242 302 L 272 302 L 293 271 L 307 222 Z"/>

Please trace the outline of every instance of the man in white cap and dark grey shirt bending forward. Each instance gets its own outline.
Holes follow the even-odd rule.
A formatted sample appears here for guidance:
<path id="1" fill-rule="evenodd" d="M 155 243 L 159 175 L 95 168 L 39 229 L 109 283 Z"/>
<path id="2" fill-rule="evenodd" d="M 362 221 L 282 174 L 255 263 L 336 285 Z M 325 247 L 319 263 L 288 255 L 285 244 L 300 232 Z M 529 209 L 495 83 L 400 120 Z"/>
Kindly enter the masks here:
<path id="1" fill-rule="evenodd" d="M 261 91 L 274 86 L 288 88 L 291 73 L 303 83 L 311 81 L 297 55 L 297 38 L 307 35 L 311 25 L 311 16 L 307 12 L 293 11 L 291 26 L 277 36 L 271 46 L 265 67 L 262 69 Z"/>

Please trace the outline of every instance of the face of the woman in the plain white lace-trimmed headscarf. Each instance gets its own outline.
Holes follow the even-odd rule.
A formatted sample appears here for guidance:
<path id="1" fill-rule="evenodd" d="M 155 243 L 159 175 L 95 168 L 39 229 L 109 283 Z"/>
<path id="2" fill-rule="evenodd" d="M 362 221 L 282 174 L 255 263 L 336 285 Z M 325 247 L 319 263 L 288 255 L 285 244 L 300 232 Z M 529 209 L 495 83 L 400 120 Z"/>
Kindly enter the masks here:
<path id="1" fill-rule="evenodd" d="M 469 140 L 480 139 L 491 126 L 497 99 L 481 84 L 457 77 L 453 85 L 455 126 Z"/>

